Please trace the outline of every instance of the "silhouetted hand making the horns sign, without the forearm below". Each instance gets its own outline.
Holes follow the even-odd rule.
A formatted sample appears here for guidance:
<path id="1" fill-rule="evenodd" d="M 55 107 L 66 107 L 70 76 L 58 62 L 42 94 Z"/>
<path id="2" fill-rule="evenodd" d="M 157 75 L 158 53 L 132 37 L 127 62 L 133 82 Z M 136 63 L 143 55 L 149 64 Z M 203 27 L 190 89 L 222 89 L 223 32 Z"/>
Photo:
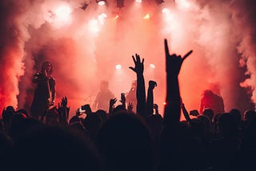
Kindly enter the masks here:
<path id="1" fill-rule="evenodd" d="M 175 76 L 178 76 L 179 71 L 181 70 L 182 62 L 190 55 L 192 54 L 193 50 L 190 50 L 188 53 L 186 53 L 183 57 L 176 54 L 169 54 L 169 47 L 167 40 L 165 39 L 165 52 L 166 52 L 166 73 L 167 74 L 174 74 Z"/>

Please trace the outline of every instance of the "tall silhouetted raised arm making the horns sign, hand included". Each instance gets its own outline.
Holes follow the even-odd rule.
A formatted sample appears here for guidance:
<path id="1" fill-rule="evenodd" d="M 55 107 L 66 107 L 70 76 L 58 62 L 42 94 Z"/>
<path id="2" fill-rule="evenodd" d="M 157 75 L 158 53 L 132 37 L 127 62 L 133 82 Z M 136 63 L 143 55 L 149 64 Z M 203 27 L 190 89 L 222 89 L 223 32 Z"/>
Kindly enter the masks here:
<path id="1" fill-rule="evenodd" d="M 182 58 L 180 55 L 169 54 L 169 47 L 165 39 L 165 53 L 166 53 L 166 106 L 164 112 L 165 125 L 178 125 L 181 115 L 181 98 L 178 85 L 178 74 L 181 70 L 182 63 L 192 53 L 190 50 Z"/>

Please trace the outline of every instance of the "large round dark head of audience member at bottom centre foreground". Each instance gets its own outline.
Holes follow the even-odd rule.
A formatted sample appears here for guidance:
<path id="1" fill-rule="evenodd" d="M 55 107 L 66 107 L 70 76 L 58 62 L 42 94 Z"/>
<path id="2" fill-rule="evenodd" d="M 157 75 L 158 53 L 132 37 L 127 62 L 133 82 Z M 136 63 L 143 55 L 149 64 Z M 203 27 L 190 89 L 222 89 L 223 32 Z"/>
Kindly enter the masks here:
<path id="1" fill-rule="evenodd" d="M 117 113 L 102 125 L 98 147 L 112 170 L 152 170 L 153 142 L 144 122 L 133 113 Z"/>

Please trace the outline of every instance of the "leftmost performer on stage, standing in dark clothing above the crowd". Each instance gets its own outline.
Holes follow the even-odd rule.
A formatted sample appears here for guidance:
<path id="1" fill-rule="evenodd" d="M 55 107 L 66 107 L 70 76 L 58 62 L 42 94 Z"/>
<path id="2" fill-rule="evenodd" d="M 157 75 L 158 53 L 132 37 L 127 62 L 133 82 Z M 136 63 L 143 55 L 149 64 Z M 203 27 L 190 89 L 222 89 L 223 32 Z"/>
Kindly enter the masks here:
<path id="1" fill-rule="evenodd" d="M 34 91 L 30 112 L 36 119 L 42 120 L 50 106 L 54 105 L 55 80 L 50 77 L 52 71 L 53 66 L 50 62 L 44 62 L 41 73 L 34 74 L 33 82 L 37 84 L 37 87 Z"/>

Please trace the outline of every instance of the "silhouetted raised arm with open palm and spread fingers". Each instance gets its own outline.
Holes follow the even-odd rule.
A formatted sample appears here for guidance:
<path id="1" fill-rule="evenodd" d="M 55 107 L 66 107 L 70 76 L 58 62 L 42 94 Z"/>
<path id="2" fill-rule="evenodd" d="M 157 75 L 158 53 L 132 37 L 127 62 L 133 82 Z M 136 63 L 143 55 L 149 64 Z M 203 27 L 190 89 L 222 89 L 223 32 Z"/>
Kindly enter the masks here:
<path id="1" fill-rule="evenodd" d="M 137 75 L 137 89 L 136 89 L 136 97 L 137 97 L 137 113 L 146 117 L 146 90 L 145 90 L 145 80 L 143 76 L 144 71 L 144 58 L 139 57 L 138 54 L 135 54 L 136 59 L 132 56 L 134 60 L 135 67 L 129 67 L 130 70 L 133 70 Z"/>

